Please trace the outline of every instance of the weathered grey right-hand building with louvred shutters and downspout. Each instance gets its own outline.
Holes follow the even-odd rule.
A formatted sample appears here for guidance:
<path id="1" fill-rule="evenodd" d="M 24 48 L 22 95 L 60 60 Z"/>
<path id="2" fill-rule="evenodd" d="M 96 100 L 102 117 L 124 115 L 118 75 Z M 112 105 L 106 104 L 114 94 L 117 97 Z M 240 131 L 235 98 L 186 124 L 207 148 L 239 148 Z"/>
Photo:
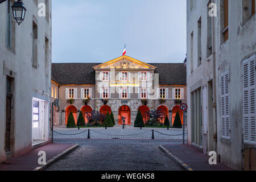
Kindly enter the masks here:
<path id="1" fill-rule="evenodd" d="M 187 0 L 188 143 L 234 169 L 256 164 L 255 18 L 254 0 Z"/>

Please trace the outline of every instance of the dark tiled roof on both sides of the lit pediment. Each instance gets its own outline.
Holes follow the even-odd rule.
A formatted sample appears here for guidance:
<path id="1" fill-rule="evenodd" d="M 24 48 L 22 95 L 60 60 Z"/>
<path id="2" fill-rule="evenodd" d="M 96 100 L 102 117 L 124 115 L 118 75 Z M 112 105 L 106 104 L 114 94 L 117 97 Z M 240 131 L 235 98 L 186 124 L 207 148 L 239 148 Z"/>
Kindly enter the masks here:
<path id="1" fill-rule="evenodd" d="M 92 67 L 100 63 L 52 63 L 52 80 L 61 85 L 94 85 Z M 187 73 L 182 63 L 150 63 L 159 73 L 160 85 L 186 85 Z"/>

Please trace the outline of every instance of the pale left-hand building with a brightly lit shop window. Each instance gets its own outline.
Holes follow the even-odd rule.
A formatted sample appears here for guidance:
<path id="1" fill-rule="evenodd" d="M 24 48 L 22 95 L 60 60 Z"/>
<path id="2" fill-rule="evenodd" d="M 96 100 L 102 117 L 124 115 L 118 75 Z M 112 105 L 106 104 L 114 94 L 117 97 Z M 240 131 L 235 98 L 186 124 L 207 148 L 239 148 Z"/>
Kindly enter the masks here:
<path id="1" fill-rule="evenodd" d="M 40 2 L 45 17 L 38 16 Z M 19 26 L 13 3 L 0 3 L 0 162 L 49 142 L 51 0 L 24 0 Z"/>

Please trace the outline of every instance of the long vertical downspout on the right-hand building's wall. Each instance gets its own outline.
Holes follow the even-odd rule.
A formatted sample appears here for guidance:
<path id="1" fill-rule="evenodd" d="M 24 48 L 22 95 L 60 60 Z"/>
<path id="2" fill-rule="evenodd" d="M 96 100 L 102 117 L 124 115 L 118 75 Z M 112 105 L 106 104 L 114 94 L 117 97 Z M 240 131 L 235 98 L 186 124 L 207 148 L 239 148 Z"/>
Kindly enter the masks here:
<path id="1" fill-rule="evenodd" d="M 216 47 L 215 47 L 215 17 L 212 18 L 212 54 L 213 54 L 213 150 L 217 152 L 217 94 L 216 94 Z"/>

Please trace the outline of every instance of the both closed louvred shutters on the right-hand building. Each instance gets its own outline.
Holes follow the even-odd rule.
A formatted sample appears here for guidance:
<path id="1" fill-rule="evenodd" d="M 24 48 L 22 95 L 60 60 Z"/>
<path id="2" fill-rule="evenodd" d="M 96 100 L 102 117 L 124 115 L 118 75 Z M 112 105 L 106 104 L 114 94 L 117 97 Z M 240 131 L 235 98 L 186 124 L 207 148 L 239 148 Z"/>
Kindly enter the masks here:
<path id="1" fill-rule="evenodd" d="M 243 139 L 245 143 L 256 144 L 256 71 L 255 55 L 243 61 Z M 229 139 L 231 132 L 229 72 L 220 78 L 221 92 L 221 135 Z"/>

